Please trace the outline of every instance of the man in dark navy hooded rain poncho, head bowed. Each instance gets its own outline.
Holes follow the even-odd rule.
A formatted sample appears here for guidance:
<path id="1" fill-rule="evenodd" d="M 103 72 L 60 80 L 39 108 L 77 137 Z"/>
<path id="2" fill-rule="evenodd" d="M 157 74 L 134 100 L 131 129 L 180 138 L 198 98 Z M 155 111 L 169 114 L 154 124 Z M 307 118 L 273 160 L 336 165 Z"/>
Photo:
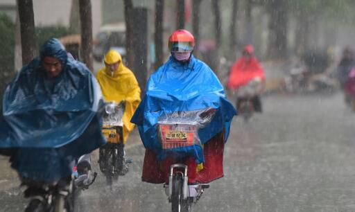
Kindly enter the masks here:
<path id="1" fill-rule="evenodd" d="M 71 175 L 71 161 L 105 143 L 98 109 L 103 97 L 85 64 L 49 39 L 3 95 L 0 152 L 21 179 L 53 182 Z"/>

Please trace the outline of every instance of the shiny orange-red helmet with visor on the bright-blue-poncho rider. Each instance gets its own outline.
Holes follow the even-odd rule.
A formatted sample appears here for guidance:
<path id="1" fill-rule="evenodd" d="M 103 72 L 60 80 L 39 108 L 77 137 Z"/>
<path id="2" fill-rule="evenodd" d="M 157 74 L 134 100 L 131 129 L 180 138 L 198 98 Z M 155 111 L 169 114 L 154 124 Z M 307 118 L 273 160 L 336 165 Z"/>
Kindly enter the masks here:
<path id="1" fill-rule="evenodd" d="M 193 51 L 195 37 L 188 30 L 176 30 L 169 37 L 168 47 L 170 52 Z"/>

